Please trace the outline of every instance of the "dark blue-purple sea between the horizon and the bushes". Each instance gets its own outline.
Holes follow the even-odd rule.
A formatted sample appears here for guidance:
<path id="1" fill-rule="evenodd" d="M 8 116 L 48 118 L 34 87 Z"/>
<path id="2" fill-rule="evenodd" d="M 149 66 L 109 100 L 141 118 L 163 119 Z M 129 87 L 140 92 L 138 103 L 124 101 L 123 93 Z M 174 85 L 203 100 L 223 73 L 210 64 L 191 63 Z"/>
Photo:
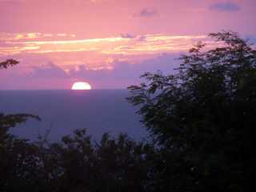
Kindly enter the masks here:
<path id="1" fill-rule="evenodd" d="M 0 113 L 42 118 L 11 130 L 21 138 L 34 140 L 49 130 L 49 139 L 58 141 L 74 129 L 86 128 L 95 139 L 109 132 L 141 140 L 146 138 L 146 130 L 137 109 L 126 101 L 128 95 L 127 90 L 0 90 Z"/>

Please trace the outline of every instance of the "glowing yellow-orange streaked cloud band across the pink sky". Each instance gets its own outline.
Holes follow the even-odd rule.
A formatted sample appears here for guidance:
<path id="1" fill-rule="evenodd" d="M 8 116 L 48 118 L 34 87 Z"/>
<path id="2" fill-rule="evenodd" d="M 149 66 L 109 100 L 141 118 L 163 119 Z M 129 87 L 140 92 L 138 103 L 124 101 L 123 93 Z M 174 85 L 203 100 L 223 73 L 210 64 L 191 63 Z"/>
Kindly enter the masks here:
<path id="1" fill-rule="evenodd" d="M 174 36 L 166 34 L 121 34 L 112 38 L 73 40 L 68 34 L 7 34 L 1 36 L 0 54 L 46 54 L 56 52 L 96 52 L 98 54 L 158 54 L 188 50 L 206 36 Z M 57 38 L 68 38 L 56 40 Z"/>

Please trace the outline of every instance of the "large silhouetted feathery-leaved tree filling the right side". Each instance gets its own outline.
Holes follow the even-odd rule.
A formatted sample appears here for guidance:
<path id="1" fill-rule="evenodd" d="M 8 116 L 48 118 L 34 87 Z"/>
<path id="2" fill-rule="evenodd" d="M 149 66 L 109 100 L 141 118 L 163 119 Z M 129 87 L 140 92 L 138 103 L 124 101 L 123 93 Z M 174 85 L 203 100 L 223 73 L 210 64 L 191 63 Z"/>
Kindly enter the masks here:
<path id="1" fill-rule="evenodd" d="M 256 50 L 238 34 L 210 34 L 176 74 L 142 75 L 129 99 L 162 146 L 159 190 L 249 191 L 255 173 Z"/>

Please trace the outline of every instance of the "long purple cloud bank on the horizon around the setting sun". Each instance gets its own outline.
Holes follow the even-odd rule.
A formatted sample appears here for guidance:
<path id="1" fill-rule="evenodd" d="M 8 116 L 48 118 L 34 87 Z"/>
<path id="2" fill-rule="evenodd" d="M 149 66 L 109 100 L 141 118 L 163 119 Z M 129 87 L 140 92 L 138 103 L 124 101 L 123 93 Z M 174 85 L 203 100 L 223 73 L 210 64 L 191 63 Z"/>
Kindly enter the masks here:
<path id="1" fill-rule="evenodd" d="M 173 72 L 178 54 L 160 54 L 142 62 L 112 61 L 113 69 L 92 70 L 85 64 L 74 65 L 69 71 L 49 62 L 46 65 L 33 67 L 22 73 L 24 66 L 15 66 L 10 70 L 0 71 L 1 89 L 70 89 L 77 81 L 89 82 L 95 89 L 126 89 L 138 84 L 140 75 L 150 71 L 162 70 L 166 74 Z"/>

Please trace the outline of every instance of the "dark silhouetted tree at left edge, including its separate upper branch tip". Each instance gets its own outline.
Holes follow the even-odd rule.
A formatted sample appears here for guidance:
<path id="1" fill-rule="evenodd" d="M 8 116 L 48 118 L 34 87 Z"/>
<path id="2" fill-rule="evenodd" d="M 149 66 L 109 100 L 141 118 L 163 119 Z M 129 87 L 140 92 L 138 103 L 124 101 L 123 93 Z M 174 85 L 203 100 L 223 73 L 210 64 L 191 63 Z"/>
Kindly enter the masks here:
<path id="1" fill-rule="evenodd" d="M 0 62 L 0 69 L 17 65 L 18 61 L 8 59 Z M 10 128 L 26 122 L 29 118 L 40 120 L 32 114 L 0 113 L 0 191 L 30 190 L 37 175 L 38 164 L 34 155 L 37 147 L 26 139 L 15 138 Z M 39 181 L 39 180 L 38 180 Z"/>

